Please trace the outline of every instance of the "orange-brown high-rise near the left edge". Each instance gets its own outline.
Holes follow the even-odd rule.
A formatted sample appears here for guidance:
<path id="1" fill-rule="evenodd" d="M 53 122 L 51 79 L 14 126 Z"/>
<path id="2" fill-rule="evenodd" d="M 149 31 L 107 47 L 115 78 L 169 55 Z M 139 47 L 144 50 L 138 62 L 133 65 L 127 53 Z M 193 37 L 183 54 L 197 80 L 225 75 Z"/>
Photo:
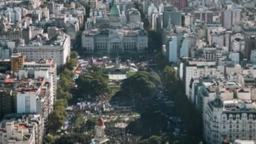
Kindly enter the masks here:
<path id="1" fill-rule="evenodd" d="M 11 56 L 11 72 L 18 73 L 18 70 L 22 69 L 26 56 L 20 53 L 14 53 Z"/>

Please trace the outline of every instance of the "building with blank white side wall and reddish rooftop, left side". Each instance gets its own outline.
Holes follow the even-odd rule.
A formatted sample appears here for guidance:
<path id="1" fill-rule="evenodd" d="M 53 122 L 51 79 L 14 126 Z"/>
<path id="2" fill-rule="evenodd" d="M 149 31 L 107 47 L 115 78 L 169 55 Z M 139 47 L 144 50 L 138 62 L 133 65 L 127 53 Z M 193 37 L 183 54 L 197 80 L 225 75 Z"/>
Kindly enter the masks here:
<path id="1" fill-rule="evenodd" d="M 51 84 L 45 78 L 39 77 L 41 73 L 35 73 L 37 79 L 23 79 L 16 84 L 17 113 L 35 113 L 41 115 L 43 122 L 47 122 L 51 112 Z M 47 75 L 47 73 L 45 73 Z"/>

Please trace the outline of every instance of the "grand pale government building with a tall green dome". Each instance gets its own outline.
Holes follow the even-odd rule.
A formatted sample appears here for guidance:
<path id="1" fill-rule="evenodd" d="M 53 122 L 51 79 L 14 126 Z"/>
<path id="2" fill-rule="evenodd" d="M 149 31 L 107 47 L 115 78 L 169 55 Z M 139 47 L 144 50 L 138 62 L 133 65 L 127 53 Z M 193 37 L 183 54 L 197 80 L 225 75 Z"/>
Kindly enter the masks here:
<path id="1" fill-rule="evenodd" d="M 137 27 L 137 24 L 141 24 L 140 14 L 137 12 L 139 22 L 136 24 L 134 23 L 134 18 L 136 17 L 131 16 L 133 18 L 133 23 L 131 24 L 131 22 L 127 22 L 123 13 L 120 12 L 119 5 L 114 3 L 108 14 L 109 28 L 98 29 L 94 27 L 83 31 L 81 41 L 85 52 L 111 54 L 147 51 L 148 37 L 142 27 Z"/>

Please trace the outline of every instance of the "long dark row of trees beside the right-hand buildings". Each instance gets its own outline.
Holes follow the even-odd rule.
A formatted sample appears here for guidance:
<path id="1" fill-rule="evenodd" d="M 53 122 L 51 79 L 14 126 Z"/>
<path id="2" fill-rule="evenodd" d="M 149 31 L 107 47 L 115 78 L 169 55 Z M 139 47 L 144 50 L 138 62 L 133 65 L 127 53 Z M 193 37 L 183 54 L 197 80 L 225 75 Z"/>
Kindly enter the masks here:
<path id="1" fill-rule="evenodd" d="M 175 101 L 175 111 L 182 118 L 188 135 L 192 136 L 187 138 L 190 139 L 191 143 L 199 143 L 202 135 L 200 114 L 186 96 L 184 84 L 177 79 L 175 69 L 166 66 L 163 73 L 166 80 L 167 94 Z"/>

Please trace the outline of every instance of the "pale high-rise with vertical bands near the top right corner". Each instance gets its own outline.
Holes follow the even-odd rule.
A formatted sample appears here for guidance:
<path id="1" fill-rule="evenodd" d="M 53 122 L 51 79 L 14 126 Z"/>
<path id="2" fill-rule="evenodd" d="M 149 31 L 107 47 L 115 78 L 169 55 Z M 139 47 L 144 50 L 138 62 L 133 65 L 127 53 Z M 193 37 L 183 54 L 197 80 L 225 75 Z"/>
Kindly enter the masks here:
<path id="1" fill-rule="evenodd" d="M 239 24 L 242 20 L 242 10 L 232 9 L 223 10 L 221 14 L 222 25 L 226 29 L 231 29 L 232 26 Z"/>

